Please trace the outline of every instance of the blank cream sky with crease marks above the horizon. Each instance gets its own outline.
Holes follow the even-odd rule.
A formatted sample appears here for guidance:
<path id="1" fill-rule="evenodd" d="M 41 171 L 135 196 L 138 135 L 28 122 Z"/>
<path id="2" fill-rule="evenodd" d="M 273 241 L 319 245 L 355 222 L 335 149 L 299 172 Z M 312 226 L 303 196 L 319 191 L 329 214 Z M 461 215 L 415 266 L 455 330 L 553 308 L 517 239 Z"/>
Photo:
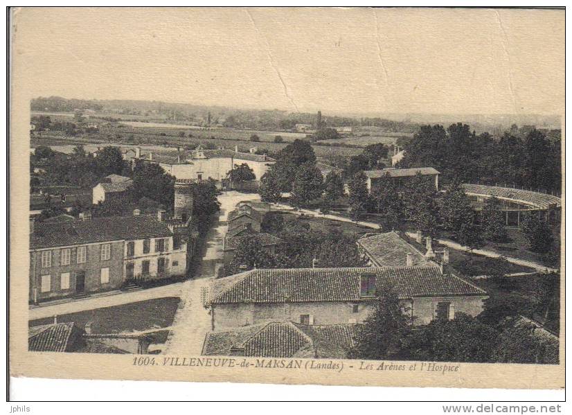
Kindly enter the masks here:
<path id="1" fill-rule="evenodd" d="M 564 11 L 24 8 L 30 98 L 331 114 L 563 114 Z"/>

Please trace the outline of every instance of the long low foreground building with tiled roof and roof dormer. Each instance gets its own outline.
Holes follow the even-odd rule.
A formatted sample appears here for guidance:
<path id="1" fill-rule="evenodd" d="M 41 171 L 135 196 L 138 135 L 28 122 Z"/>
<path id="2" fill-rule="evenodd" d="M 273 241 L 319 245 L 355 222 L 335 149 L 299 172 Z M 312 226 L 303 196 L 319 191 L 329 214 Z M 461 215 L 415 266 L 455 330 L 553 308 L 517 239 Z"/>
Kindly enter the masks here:
<path id="1" fill-rule="evenodd" d="M 438 266 L 250 270 L 211 285 L 212 328 L 292 320 L 353 324 L 368 317 L 380 292 L 391 290 L 413 324 L 455 312 L 478 315 L 486 292 Z"/>

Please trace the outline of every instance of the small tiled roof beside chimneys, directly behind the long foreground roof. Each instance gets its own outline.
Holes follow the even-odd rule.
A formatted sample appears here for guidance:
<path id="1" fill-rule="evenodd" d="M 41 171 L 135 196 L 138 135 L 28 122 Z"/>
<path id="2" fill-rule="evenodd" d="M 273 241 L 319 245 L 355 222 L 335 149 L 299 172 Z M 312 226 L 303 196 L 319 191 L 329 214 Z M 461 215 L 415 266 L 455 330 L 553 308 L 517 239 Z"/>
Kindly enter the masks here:
<path id="1" fill-rule="evenodd" d="M 411 265 L 427 265 L 424 255 L 413 245 L 404 240 L 397 232 L 379 233 L 374 236 L 359 238 L 368 257 L 377 267 L 404 267 L 407 265 L 407 253 L 411 253 Z"/>

